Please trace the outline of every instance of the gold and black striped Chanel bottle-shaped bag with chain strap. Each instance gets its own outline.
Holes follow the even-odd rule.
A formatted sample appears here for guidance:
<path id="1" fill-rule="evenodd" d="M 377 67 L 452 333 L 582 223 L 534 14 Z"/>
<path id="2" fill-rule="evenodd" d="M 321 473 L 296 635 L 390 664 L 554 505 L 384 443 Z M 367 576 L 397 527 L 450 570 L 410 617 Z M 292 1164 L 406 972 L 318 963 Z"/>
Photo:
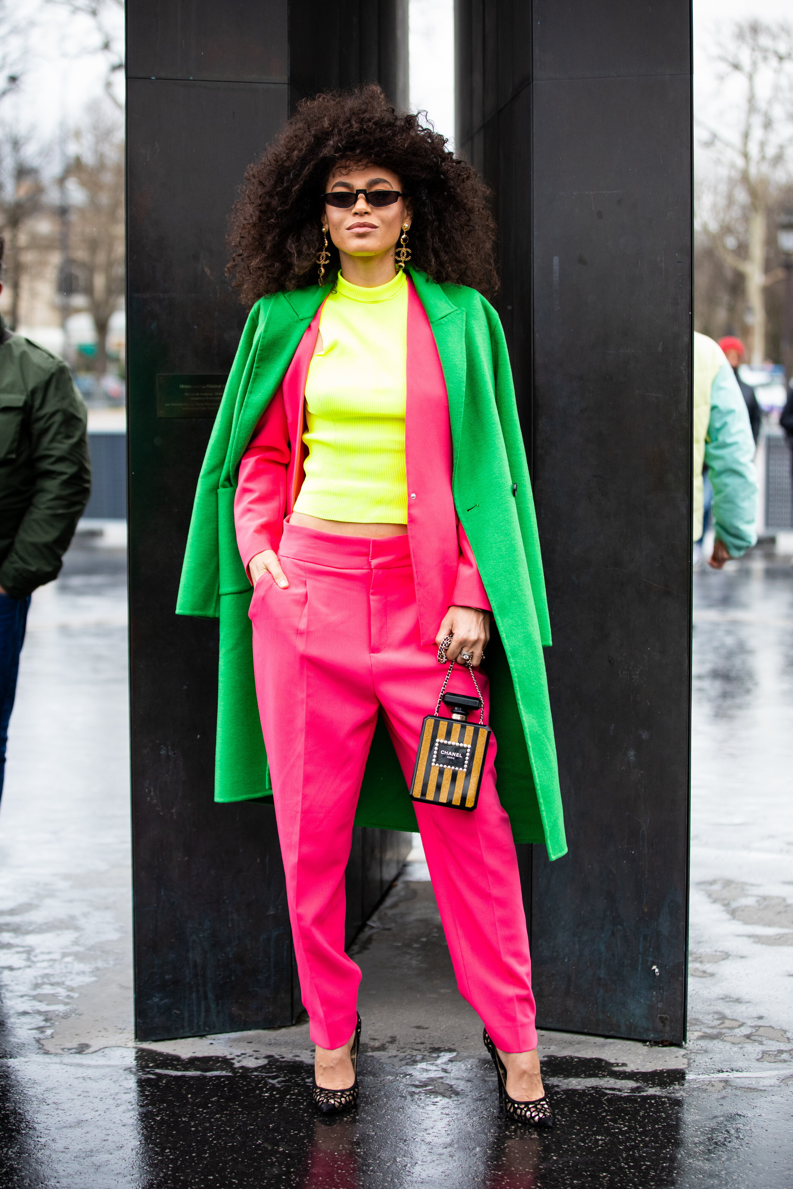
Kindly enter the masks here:
<path id="1" fill-rule="evenodd" d="M 438 659 L 441 661 L 446 660 L 449 638 L 447 636 L 439 649 Z M 435 713 L 427 715 L 421 724 L 410 795 L 415 801 L 426 801 L 428 805 L 476 810 L 492 731 L 485 725 L 485 703 L 479 693 L 472 663 L 468 661 L 468 673 L 478 694 L 476 698 L 446 692 L 453 669 L 452 662 L 438 697 Z M 451 710 L 451 718 L 441 718 L 438 713 L 441 702 Z M 479 711 L 478 723 L 467 721 L 473 710 Z"/>

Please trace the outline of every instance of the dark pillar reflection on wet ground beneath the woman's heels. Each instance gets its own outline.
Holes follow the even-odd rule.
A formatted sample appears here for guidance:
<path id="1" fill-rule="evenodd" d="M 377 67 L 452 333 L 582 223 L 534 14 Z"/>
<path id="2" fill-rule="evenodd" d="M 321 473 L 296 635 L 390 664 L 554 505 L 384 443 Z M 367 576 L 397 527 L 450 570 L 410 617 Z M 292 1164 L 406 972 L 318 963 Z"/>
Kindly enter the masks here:
<path id="1" fill-rule="evenodd" d="M 553 1132 L 496 1111 L 484 1062 L 365 1072 L 357 1111 L 314 1114 L 310 1068 L 271 1061 L 138 1053 L 146 1189 L 268 1185 L 296 1189 L 661 1189 L 676 1179 L 680 1071 L 632 1072 L 605 1061 L 547 1058 Z M 428 1075 L 434 1076 L 428 1080 Z M 585 1177 L 585 1181 L 580 1181 Z"/>

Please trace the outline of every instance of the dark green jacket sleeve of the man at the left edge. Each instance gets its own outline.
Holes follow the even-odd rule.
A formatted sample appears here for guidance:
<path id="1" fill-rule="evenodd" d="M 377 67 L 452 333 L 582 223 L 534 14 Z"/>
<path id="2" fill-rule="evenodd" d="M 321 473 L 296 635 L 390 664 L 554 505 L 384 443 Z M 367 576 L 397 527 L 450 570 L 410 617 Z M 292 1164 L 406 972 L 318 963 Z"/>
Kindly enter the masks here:
<path id="1" fill-rule="evenodd" d="M 67 365 L 56 364 L 27 403 L 32 497 L 0 566 L 0 586 L 13 598 L 57 578 L 90 495 L 87 411 Z"/>

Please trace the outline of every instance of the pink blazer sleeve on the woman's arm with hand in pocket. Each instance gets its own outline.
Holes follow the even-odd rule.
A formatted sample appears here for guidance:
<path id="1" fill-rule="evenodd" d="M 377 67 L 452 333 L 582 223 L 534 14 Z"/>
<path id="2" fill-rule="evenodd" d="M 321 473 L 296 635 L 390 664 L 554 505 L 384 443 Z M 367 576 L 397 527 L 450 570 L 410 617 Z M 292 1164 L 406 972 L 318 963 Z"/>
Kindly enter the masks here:
<path id="1" fill-rule="evenodd" d="M 291 458 L 289 426 L 279 388 L 263 414 L 239 465 L 234 528 L 245 572 L 264 549 L 278 549 L 287 511 L 287 468 Z"/>

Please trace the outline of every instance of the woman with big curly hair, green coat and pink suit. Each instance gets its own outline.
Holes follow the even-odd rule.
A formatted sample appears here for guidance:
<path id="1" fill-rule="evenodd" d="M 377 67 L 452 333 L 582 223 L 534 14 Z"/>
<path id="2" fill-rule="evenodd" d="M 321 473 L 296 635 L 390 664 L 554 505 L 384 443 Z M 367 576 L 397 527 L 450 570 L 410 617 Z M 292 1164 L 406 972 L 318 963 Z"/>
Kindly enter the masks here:
<path id="1" fill-rule="evenodd" d="M 178 611 L 220 615 L 216 799 L 273 795 L 317 1106 L 358 1095 L 360 970 L 344 951 L 354 820 L 421 831 L 499 1096 L 550 1126 L 514 838 L 545 841 L 552 858 L 566 847 L 534 507 L 504 335 L 482 296 L 496 288 L 486 200 L 443 138 L 377 87 L 304 101 L 248 170 L 229 271 L 252 310 Z M 414 803 L 439 659 L 473 693 L 486 648 L 493 742 L 477 809 Z"/>

